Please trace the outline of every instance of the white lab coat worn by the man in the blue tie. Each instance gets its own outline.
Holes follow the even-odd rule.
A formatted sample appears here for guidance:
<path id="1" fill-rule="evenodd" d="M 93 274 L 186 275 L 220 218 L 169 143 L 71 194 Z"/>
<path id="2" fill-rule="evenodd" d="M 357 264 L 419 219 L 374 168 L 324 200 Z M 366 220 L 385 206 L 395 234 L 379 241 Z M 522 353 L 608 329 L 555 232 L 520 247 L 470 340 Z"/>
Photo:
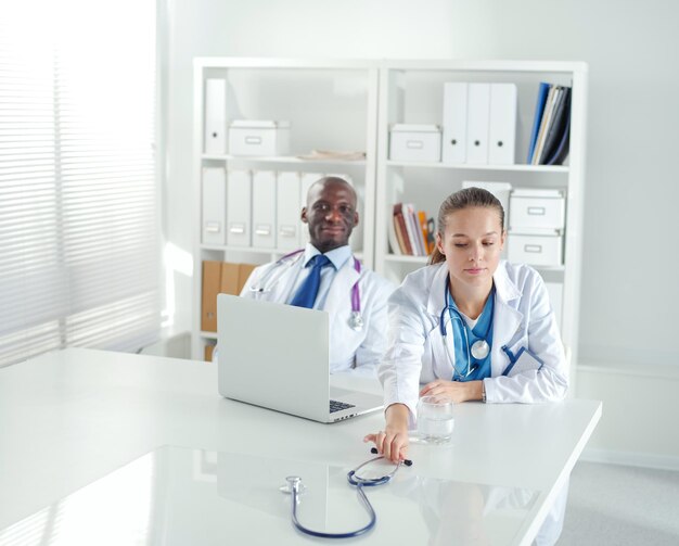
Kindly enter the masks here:
<path id="1" fill-rule="evenodd" d="M 286 303 L 303 267 L 303 259 L 296 256 L 282 264 L 273 262 L 259 266 L 251 274 L 241 295 Z M 251 287 L 260 287 L 262 279 L 264 284 L 271 284 L 270 290 L 264 293 L 252 291 Z M 357 279 L 364 322 L 359 331 L 349 327 L 351 288 Z M 359 274 L 354 267 L 353 258 L 347 259 L 337 270 L 322 308 L 330 315 L 331 373 L 356 371 L 374 377 L 376 366 L 386 350 L 387 301 L 395 288 L 392 282 L 366 267 L 361 267 Z"/>

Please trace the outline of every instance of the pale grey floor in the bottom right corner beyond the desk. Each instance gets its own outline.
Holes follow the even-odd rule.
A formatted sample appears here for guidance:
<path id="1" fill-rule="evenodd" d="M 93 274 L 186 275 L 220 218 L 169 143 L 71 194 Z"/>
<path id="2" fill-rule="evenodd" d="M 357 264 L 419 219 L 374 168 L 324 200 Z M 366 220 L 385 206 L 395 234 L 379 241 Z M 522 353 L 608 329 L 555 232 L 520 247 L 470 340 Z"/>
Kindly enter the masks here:
<path id="1" fill-rule="evenodd" d="M 558 544 L 679 545 L 679 472 L 578 462 Z"/>

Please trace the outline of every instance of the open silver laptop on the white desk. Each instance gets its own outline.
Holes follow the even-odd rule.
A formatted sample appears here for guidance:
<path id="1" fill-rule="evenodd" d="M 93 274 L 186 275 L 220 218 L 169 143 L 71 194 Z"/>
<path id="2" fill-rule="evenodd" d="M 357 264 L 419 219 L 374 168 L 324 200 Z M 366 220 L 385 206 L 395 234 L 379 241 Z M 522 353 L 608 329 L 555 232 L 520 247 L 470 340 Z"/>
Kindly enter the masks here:
<path id="1" fill-rule="evenodd" d="M 325 312 L 219 294 L 219 393 L 321 422 L 381 409 L 374 394 L 331 390 L 329 331 Z"/>

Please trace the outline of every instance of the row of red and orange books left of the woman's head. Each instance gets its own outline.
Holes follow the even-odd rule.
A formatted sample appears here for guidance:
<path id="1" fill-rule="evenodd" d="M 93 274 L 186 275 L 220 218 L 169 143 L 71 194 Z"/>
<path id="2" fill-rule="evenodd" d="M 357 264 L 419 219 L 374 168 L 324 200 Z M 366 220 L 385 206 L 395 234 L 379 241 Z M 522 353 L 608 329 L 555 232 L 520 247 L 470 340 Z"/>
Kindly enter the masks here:
<path id="1" fill-rule="evenodd" d="M 434 250 L 434 219 L 412 203 L 396 203 L 388 229 L 392 253 L 405 256 L 428 256 Z"/>

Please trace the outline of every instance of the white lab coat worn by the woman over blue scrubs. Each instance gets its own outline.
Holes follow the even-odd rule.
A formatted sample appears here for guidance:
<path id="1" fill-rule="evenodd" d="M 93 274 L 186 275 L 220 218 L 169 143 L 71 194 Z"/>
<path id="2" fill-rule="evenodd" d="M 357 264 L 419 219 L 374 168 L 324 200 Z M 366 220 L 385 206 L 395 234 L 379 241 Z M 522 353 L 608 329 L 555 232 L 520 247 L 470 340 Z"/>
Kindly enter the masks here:
<path id="1" fill-rule="evenodd" d="M 444 315 L 448 335 L 440 331 L 446 307 L 448 269 L 445 263 L 410 274 L 389 299 L 388 350 L 379 368 L 385 404 L 402 403 L 415 414 L 420 384 L 452 379 L 454 346 L 449 314 Z M 546 402 L 562 399 L 568 386 L 566 359 L 556 319 L 545 282 L 526 265 L 501 261 L 494 275 L 491 378 L 484 380 L 486 399 L 496 402 Z M 446 345 L 448 344 L 448 351 Z M 502 351 L 525 346 L 543 363 L 541 370 L 503 377 L 510 364 Z"/>

